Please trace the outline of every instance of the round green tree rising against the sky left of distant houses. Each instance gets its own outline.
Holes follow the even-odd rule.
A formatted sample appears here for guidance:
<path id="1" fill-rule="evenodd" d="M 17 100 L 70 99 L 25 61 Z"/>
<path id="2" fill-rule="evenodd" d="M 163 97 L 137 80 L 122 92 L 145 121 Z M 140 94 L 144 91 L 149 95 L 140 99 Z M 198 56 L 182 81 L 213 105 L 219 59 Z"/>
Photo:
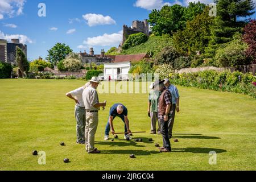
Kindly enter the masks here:
<path id="1" fill-rule="evenodd" d="M 56 65 L 59 61 L 65 59 L 72 51 L 73 50 L 69 46 L 66 46 L 65 43 L 56 43 L 55 46 L 48 50 L 47 60 L 53 65 Z"/>

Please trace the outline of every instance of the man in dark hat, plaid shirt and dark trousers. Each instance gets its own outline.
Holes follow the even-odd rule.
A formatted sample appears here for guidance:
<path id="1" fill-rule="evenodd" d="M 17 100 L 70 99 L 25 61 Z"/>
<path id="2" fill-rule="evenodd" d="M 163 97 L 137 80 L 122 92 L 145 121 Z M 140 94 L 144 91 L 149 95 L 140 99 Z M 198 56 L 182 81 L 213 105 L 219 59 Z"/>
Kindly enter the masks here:
<path id="1" fill-rule="evenodd" d="M 160 147 L 160 152 L 171 152 L 171 143 L 168 135 L 168 121 L 170 119 L 170 112 L 172 109 L 172 96 L 163 81 L 155 81 L 155 87 L 161 92 L 158 101 L 158 119 L 161 127 L 161 134 L 163 137 L 163 147 Z"/>

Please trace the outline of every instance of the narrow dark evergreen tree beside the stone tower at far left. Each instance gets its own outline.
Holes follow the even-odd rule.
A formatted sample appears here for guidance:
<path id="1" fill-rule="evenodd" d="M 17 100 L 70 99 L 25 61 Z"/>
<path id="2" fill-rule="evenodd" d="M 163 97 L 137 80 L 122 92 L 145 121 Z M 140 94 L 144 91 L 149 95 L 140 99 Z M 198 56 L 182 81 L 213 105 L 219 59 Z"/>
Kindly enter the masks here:
<path id="1" fill-rule="evenodd" d="M 19 67 L 22 77 L 24 77 L 24 72 L 27 72 L 30 69 L 30 64 L 27 61 L 26 55 L 18 46 L 16 46 L 16 64 Z"/>

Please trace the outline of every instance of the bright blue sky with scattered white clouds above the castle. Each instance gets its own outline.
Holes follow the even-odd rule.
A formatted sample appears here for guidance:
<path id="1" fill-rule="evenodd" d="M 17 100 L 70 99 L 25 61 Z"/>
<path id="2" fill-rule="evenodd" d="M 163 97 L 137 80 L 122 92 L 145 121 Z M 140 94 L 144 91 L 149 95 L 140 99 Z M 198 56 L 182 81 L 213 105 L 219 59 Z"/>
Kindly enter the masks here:
<path id="1" fill-rule="evenodd" d="M 99 54 L 102 48 L 108 51 L 118 46 L 123 24 L 131 26 L 133 20 L 147 19 L 152 9 L 160 9 L 164 4 L 185 6 L 190 1 L 1 0 L 0 39 L 19 38 L 26 43 L 28 60 L 45 58 L 47 50 L 57 42 L 67 44 L 74 52 L 89 52 L 93 47 Z M 39 3 L 46 5 L 46 17 L 38 16 Z"/>

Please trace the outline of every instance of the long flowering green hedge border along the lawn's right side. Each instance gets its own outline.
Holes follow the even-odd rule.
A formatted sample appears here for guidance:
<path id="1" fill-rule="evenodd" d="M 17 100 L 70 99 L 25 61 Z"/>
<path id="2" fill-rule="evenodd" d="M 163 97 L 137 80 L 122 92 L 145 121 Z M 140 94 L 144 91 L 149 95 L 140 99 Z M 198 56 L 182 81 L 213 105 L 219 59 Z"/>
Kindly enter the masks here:
<path id="1" fill-rule="evenodd" d="M 170 80 L 176 85 L 242 93 L 256 98 L 256 77 L 251 73 L 212 70 L 196 73 L 170 73 Z"/>

